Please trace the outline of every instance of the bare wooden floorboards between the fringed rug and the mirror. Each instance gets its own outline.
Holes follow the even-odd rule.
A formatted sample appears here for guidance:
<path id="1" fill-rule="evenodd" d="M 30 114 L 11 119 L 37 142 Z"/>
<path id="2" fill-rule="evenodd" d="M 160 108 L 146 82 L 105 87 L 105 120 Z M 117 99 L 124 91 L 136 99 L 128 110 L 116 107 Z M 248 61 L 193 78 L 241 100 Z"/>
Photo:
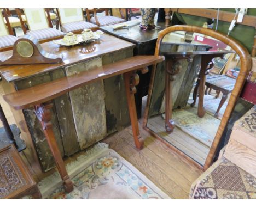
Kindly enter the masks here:
<path id="1" fill-rule="evenodd" d="M 188 199 L 191 183 L 202 174 L 202 170 L 141 127 L 140 131 L 145 143 L 142 150 L 135 148 L 131 127 L 102 142 L 109 144 L 109 148 L 117 151 L 171 198 Z"/>

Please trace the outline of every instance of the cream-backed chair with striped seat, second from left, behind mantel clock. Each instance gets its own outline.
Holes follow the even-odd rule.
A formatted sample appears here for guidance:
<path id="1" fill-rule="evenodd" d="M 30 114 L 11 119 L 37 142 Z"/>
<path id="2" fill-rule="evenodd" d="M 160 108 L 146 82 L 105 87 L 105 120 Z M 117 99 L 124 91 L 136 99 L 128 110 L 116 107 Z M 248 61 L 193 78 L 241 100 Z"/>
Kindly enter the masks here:
<path id="1" fill-rule="evenodd" d="M 22 14 L 20 9 L 16 9 L 16 12 L 20 18 L 21 27 L 24 31 L 24 34 L 33 36 L 39 40 L 39 42 L 48 42 L 51 40 L 56 40 L 63 38 L 65 33 L 60 30 L 54 29 L 51 24 L 49 10 L 48 9 L 23 9 L 24 17 L 27 21 L 27 26 L 30 31 L 27 31 L 27 28 L 24 23 L 24 17 L 22 19 Z M 47 16 L 46 16 L 46 14 Z"/>

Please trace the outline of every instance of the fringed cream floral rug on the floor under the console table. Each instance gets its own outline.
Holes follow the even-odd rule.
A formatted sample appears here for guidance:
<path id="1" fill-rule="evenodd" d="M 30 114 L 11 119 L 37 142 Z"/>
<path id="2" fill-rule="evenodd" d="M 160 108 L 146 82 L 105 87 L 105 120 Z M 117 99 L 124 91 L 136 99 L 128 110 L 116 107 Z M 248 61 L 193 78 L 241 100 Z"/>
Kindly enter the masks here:
<path id="1" fill-rule="evenodd" d="M 74 190 L 66 193 L 56 172 L 38 183 L 44 199 L 170 199 L 104 143 L 98 143 L 66 168 Z"/>

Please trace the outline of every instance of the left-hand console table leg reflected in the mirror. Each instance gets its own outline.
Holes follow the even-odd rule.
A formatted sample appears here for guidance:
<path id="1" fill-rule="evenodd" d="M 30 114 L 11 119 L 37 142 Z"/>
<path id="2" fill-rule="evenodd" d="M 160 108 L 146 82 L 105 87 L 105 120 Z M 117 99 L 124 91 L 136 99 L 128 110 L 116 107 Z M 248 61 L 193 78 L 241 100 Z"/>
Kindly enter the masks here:
<path id="1" fill-rule="evenodd" d="M 173 60 L 166 60 L 166 73 L 165 73 L 165 130 L 171 133 L 175 127 L 174 120 L 172 120 L 172 68 Z"/>

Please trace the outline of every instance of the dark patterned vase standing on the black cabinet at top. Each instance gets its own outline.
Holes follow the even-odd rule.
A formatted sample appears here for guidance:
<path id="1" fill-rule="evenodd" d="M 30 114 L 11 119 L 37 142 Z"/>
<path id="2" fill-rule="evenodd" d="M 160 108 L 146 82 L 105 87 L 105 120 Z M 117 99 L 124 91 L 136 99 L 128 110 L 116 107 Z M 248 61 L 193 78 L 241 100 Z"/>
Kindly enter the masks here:
<path id="1" fill-rule="evenodd" d="M 143 30 L 154 29 L 155 13 L 155 9 L 141 9 L 141 24 L 139 25 L 139 27 Z"/>

